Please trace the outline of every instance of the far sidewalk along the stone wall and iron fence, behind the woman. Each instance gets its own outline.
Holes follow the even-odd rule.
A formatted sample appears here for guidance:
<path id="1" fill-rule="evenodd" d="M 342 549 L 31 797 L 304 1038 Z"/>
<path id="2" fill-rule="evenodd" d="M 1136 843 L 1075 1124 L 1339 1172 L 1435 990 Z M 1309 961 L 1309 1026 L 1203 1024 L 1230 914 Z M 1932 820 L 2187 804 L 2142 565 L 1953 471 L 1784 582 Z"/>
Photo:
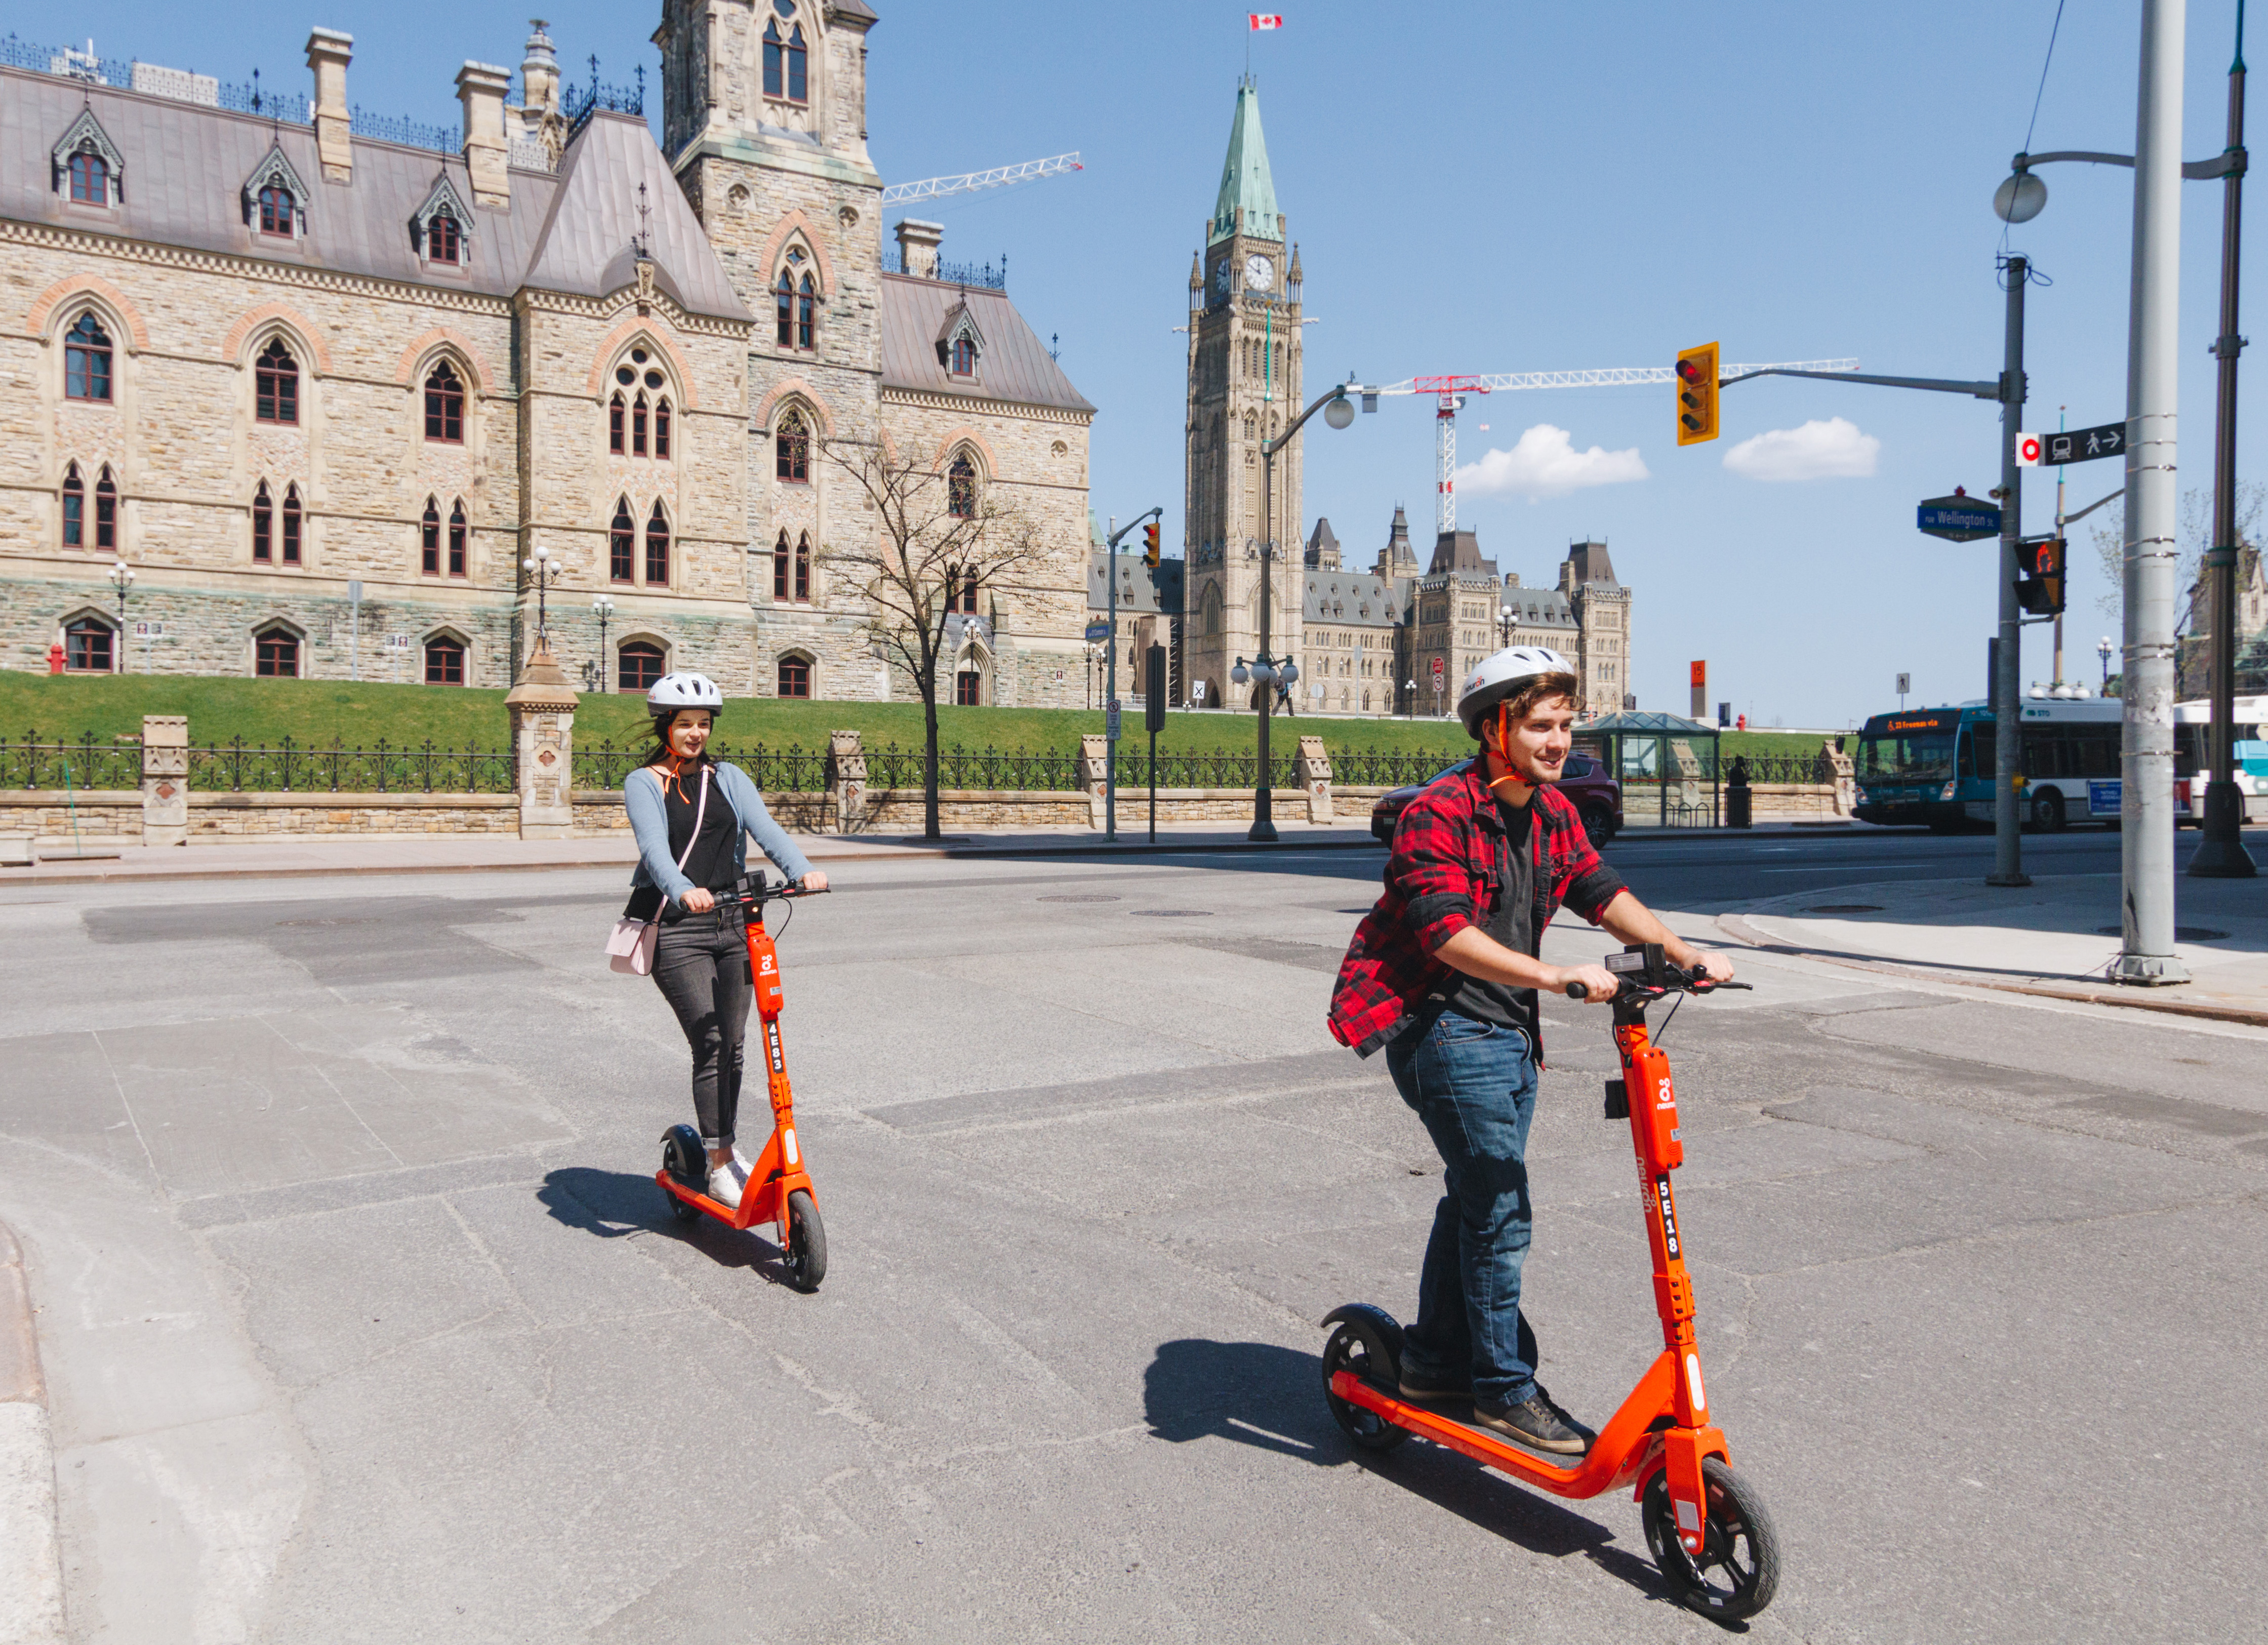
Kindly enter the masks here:
<path id="1" fill-rule="evenodd" d="M 1145 828 L 1120 828 L 1105 844 L 1093 828 L 1030 828 L 996 835 L 796 835 L 812 862 L 860 858 L 1000 858 L 1000 855 L 1145 855 L 1150 851 L 1281 851 L 1286 846 L 1372 846 L 1363 824 L 1277 821 L 1279 842 L 1254 846 L 1247 824 L 1161 824 L 1157 846 Z M 116 855 L 50 855 L 34 867 L 0 867 L 9 885 L 84 885 L 113 880 L 313 878 L 340 874 L 492 874 L 499 869 L 624 869 L 637 860 L 628 830 L 578 840 L 515 835 L 365 835 L 333 840 L 245 840 L 229 844 L 125 846 Z"/>

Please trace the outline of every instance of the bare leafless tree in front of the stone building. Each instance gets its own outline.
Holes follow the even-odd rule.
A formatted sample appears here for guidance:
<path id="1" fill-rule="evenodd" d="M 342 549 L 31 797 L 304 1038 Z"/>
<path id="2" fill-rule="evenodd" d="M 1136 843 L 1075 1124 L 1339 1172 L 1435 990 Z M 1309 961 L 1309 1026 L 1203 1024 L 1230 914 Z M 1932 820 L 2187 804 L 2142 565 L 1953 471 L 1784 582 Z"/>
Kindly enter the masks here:
<path id="1" fill-rule="evenodd" d="M 864 495 L 873 533 L 819 551 L 866 601 L 873 653 L 921 692 L 925 760 L 921 833 L 937 840 L 937 676 L 953 663 L 953 617 L 980 619 L 978 601 L 1039 558 L 1032 520 L 950 458 L 919 463 L 887 436 L 826 438 L 819 449 Z"/>

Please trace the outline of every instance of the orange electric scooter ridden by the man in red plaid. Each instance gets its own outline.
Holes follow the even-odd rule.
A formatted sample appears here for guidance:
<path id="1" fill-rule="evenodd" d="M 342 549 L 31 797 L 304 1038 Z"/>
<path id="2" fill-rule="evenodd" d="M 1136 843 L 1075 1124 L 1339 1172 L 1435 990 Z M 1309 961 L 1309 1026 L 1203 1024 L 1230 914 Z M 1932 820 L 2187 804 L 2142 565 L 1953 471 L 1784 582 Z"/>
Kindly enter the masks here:
<path id="1" fill-rule="evenodd" d="M 1606 1116 L 1628 1119 L 1644 1184 L 1647 1243 L 1653 1248 L 1653 1302 L 1662 1316 L 1662 1355 L 1592 1441 L 1590 1452 L 1560 1466 L 1492 1432 L 1467 1427 L 1399 1398 L 1402 1325 L 1368 1302 L 1331 1309 L 1336 1323 L 1322 1350 L 1322 1389 L 1331 1416 L 1363 1450 L 1390 1450 L 1411 1434 L 1501 1468 L 1563 1498 L 1594 1498 L 1631 1486 L 1647 1527 L 1647 1547 L 1676 1595 L 1719 1620 L 1755 1616 L 1780 1581 L 1780 1543 L 1758 1488 L 1733 1473 L 1724 1432 L 1708 1420 L 1701 1355 L 1694 1345 L 1694 1291 L 1685 1275 L 1669 1173 L 1685 1162 L 1669 1057 L 1647 1041 L 1647 1005 L 1669 994 L 1712 994 L 1699 971 L 1681 971 L 1660 944 L 1635 944 L 1606 958 L 1615 973 L 1615 1048 L 1622 1078 L 1606 1082 Z M 1567 987 L 1583 998 L 1583 985 Z"/>

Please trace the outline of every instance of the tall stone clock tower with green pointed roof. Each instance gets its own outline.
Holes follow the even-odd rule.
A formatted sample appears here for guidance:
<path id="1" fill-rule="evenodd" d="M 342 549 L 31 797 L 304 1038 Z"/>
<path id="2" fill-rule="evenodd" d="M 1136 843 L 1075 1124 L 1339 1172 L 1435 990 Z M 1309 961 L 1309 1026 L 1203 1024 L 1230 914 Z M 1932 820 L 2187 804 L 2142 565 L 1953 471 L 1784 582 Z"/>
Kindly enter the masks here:
<path id="1" fill-rule="evenodd" d="M 1236 123 L 1204 247 L 1188 268 L 1188 467 L 1184 486 L 1182 647 L 1204 703 L 1250 708 L 1229 669 L 1261 649 L 1261 567 L 1275 576 L 1268 647 L 1300 649 L 1300 447 L 1277 452 L 1275 497 L 1261 506 L 1261 445 L 1300 415 L 1300 247 L 1284 236 L 1261 95 L 1236 86 Z M 1261 533 L 1275 538 L 1263 558 Z M 1227 692 L 1227 694 L 1225 694 Z"/>

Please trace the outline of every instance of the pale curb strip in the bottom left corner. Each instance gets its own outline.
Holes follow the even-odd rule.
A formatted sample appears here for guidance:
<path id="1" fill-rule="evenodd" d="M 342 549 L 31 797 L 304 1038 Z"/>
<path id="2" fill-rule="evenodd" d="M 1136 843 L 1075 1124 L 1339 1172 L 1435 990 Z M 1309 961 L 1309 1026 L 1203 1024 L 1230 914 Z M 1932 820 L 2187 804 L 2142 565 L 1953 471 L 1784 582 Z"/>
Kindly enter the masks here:
<path id="1" fill-rule="evenodd" d="M 54 1441 L 23 1248 L 0 1223 L 0 1638 L 64 1645 Z"/>

